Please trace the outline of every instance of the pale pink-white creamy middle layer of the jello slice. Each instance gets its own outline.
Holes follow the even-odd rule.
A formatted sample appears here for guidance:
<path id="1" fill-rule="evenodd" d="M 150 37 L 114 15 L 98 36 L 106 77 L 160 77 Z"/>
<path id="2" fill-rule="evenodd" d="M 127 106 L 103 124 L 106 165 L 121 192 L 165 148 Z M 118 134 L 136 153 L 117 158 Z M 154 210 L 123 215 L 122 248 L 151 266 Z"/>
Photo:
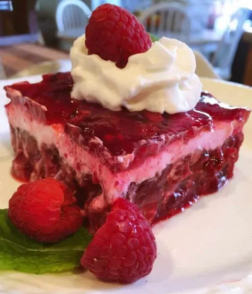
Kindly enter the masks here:
<path id="1" fill-rule="evenodd" d="M 167 165 L 172 164 L 184 156 L 203 149 L 211 150 L 221 147 L 226 139 L 232 134 L 237 121 L 232 123 L 217 123 L 212 131 L 202 131 L 197 137 L 190 139 L 186 144 L 177 141 L 167 146 L 155 157 L 149 157 L 140 166 L 130 170 L 118 173 L 112 173 L 106 165 L 101 164 L 98 158 L 83 150 L 77 144 L 73 143 L 64 133 L 61 125 L 44 125 L 36 121 L 31 121 L 22 107 L 15 106 L 9 109 L 9 123 L 16 128 L 27 131 L 33 136 L 40 148 L 42 144 L 48 146 L 55 145 L 59 150 L 59 155 L 65 159 L 65 162 L 76 171 L 78 179 L 83 174 L 96 173 L 96 177 L 102 186 L 102 194 L 94 198 L 92 206 L 94 209 L 102 209 L 105 205 L 104 196 L 109 204 L 112 204 L 118 196 L 127 193 L 131 182 L 137 184 L 154 177 L 156 173 L 161 173 Z M 20 118 L 23 118 L 20 120 Z M 102 142 L 101 142 L 102 144 Z M 119 156 L 118 162 L 123 160 Z M 125 157 L 129 157 L 125 155 Z M 134 158 L 134 153 L 131 154 Z"/>

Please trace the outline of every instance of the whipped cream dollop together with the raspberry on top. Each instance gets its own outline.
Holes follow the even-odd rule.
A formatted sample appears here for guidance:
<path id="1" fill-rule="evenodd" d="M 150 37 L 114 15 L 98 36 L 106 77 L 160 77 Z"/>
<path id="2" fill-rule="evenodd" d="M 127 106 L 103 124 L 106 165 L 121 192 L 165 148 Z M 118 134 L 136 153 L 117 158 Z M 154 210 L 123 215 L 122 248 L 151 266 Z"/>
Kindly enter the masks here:
<path id="1" fill-rule="evenodd" d="M 200 100 L 202 84 L 193 51 L 166 37 L 150 36 L 129 11 L 97 7 L 70 50 L 72 97 L 113 111 L 180 113 Z"/>

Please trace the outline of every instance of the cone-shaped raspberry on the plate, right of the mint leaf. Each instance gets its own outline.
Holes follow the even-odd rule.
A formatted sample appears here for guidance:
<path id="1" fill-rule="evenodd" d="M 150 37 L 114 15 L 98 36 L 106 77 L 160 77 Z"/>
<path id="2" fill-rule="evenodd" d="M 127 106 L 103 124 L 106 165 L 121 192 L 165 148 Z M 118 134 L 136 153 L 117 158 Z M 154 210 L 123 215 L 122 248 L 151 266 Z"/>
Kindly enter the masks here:
<path id="1" fill-rule="evenodd" d="M 125 284 L 148 275 L 156 257 L 157 245 L 149 222 L 136 206 L 118 198 L 81 264 L 97 278 Z"/>

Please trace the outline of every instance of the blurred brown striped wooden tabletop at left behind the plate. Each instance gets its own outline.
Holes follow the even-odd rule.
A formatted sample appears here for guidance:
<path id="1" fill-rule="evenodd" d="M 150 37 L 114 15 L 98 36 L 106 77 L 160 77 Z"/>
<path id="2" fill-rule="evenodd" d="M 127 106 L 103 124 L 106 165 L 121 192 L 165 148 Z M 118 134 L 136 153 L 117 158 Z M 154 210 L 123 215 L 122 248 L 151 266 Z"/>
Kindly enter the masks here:
<path id="1" fill-rule="evenodd" d="M 69 59 L 69 53 L 35 44 L 21 44 L 0 47 L 0 59 L 6 76 L 10 77 L 37 63 Z"/>

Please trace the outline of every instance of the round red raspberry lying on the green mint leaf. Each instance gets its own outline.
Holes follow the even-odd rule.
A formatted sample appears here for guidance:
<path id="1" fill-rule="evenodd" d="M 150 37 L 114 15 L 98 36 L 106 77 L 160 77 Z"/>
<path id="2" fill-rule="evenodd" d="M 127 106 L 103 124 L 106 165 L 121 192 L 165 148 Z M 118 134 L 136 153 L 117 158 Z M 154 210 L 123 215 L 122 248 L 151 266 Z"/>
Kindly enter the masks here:
<path id="1" fill-rule="evenodd" d="M 46 178 L 21 185 L 9 200 L 8 215 L 18 229 L 39 242 L 58 242 L 82 225 L 75 197 L 61 182 Z"/>

